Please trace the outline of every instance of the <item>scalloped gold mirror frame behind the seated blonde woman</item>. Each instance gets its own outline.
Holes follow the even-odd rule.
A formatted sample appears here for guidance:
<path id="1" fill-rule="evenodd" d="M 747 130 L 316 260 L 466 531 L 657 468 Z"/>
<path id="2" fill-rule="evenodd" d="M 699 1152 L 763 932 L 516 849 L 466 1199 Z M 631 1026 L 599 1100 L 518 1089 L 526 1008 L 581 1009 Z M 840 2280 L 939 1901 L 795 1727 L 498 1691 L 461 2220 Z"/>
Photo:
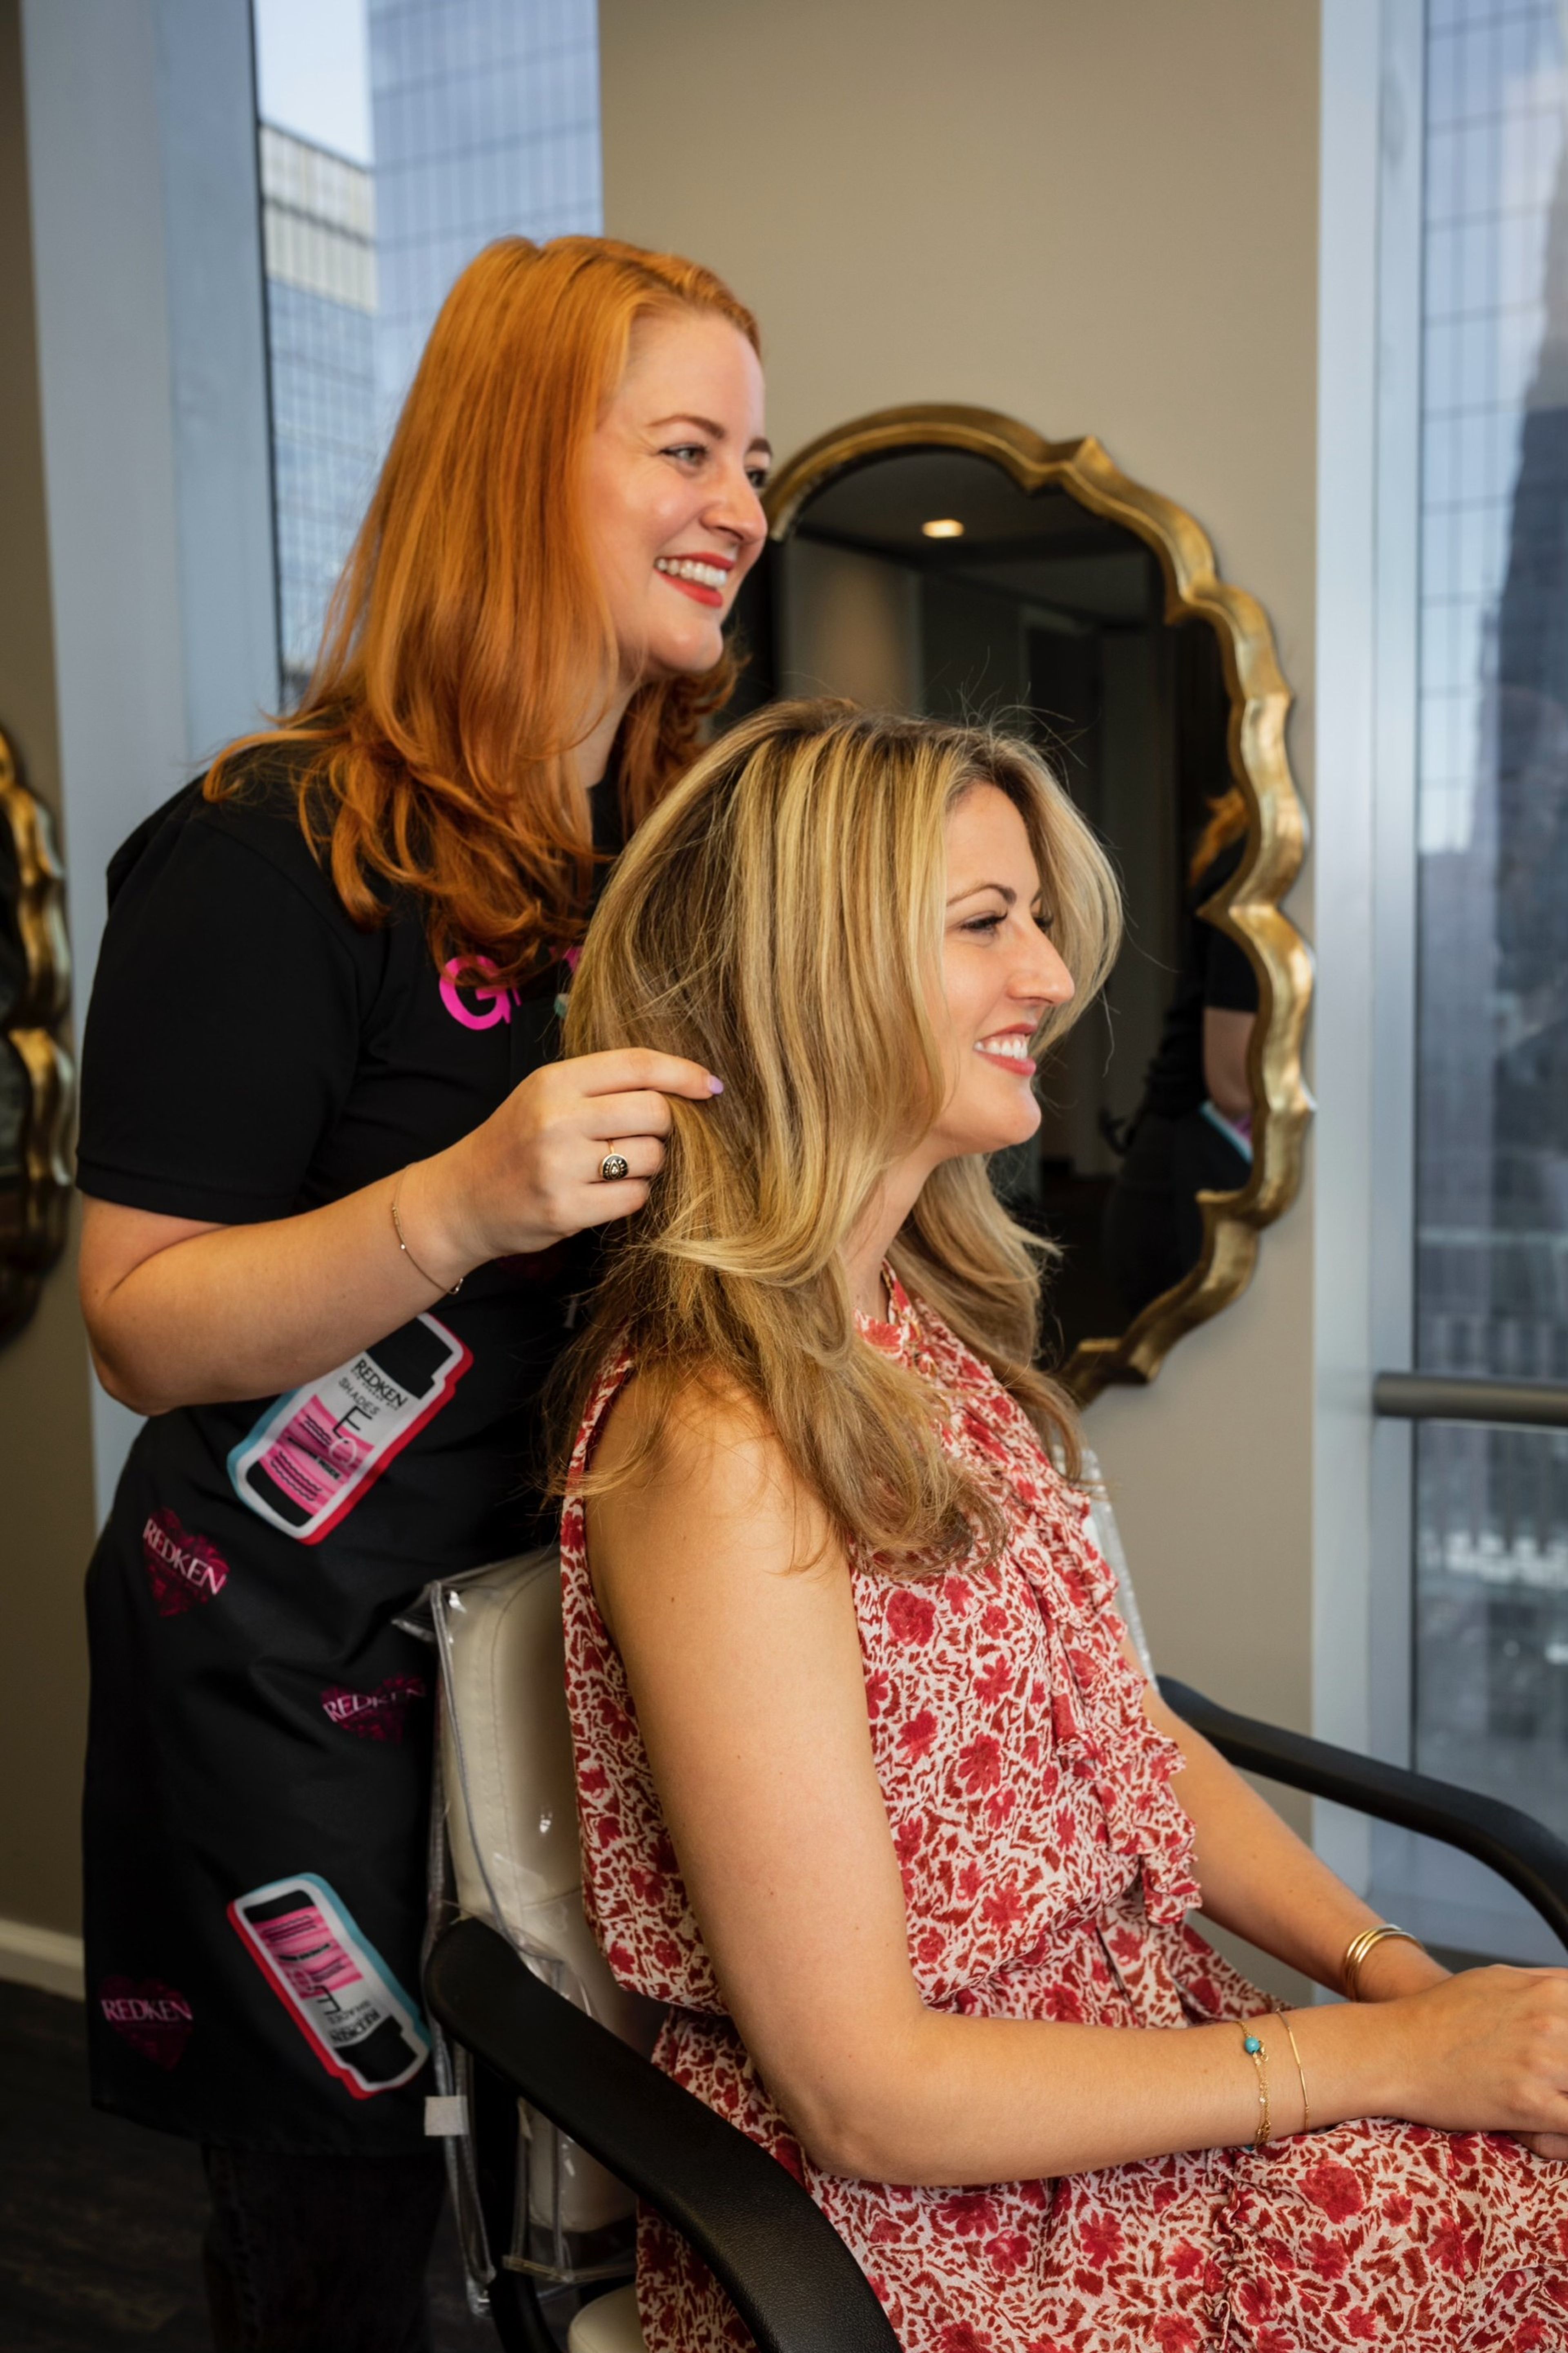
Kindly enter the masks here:
<path id="1" fill-rule="evenodd" d="M 1171 499 L 1128 480 L 1093 433 L 1048 442 L 994 409 L 877 409 L 823 433 L 778 471 L 766 492 L 769 536 L 788 539 L 799 508 L 830 475 L 896 449 L 969 449 L 1001 466 L 1023 492 L 1065 489 L 1088 513 L 1126 525 L 1159 558 L 1166 621 L 1201 619 L 1213 628 L 1229 687 L 1229 772 L 1248 809 L 1246 856 L 1204 913 L 1241 944 L 1258 974 L 1253 1167 L 1237 1193 L 1199 1193 L 1204 1254 L 1192 1273 L 1152 1299 L 1119 1339 L 1088 1339 L 1072 1351 L 1063 1379 L 1086 1405 L 1112 1381 L 1152 1381 L 1182 1332 L 1208 1322 L 1246 1289 L 1260 1231 L 1291 1207 L 1300 1188 L 1312 1118 L 1302 1080 L 1312 955 L 1281 911 L 1307 847 L 1307 816 L 1286 751 L 1291 689 L 1258 598 L 1222 581 L 1201 525 Z"/>

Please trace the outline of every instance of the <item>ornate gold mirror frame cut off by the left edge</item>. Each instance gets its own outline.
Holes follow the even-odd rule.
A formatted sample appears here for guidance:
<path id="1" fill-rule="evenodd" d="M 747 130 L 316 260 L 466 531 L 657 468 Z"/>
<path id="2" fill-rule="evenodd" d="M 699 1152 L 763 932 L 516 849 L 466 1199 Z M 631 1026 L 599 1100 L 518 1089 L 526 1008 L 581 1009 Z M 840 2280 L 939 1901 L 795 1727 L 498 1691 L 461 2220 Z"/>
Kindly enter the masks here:
<path id="1" fill-rule="evenodd" d="M 49 812 L 28 793 L 0 734 L 0 828 L 16 864 L 12 915 L 21 941 L 21 988 L 5 1014 L 5 1045 L 21 1064 L 19 1172 L 0 1184 L 0 1341 L 16 1332 L 66 1245 L 73 1068 L 54 1035 L 71 1002 L 63 875 Z"/>

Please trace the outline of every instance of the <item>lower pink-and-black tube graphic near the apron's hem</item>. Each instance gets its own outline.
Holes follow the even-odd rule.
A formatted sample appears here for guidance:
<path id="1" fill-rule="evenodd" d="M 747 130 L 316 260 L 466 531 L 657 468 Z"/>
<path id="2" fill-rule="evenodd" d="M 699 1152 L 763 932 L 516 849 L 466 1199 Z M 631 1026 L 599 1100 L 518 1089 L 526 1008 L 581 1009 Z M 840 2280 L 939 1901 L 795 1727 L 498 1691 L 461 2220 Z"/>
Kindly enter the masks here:
<path id="1" fill-rule="evenodd" d="M 430 2054 L 418 2009 L 327 1880 L 299 1871 L 235 1897 L 228 1918 L 322 2066 L 355 2099 L 393 2092 Z"/>

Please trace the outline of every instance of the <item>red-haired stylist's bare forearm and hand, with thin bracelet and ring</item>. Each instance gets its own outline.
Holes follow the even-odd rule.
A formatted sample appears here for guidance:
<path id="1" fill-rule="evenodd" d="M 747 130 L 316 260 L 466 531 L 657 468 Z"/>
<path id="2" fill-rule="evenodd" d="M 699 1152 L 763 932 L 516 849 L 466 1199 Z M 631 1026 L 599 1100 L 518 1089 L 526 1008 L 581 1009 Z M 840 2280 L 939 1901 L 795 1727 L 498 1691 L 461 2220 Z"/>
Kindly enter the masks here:
<path id="1" fill-rule="evenodd" d="M 80 1297 L 99 1379 L 134 1412 L 167 1414 L 329 1372 L 475 1266 L 642 1209 L 663 1165 L 668 1096 L 712 1092 L 693 1061 L 644 1049 L 534 1071 L 461 1144 L 404 1172 L 397 1214 L 411 1254 L 393 1228 L 393 1176 L 261 1226 L 89 1200 Z M 611 1141 L 630 1162 L 621 1184 L 597 1174 Z"/>

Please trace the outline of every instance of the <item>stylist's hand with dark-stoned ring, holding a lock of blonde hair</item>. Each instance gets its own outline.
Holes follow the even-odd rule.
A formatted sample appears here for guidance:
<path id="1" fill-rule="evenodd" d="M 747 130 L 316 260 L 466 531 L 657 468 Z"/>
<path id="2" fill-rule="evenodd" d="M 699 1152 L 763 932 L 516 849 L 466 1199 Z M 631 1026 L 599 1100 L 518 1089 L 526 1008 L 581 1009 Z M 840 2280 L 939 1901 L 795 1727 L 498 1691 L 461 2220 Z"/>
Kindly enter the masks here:
<path id="1" fill-rule="evenodd" d="M 421 1266 L 451 1285 L 489 1259 L 550 1249 L 569 1233 L 630 1217 L 665 1162 L 670 1096 L 705 1104 L 722 1080 L 696 1061 L 621 1047 L 550 1061 L 505 1104 L 402 1179 L 402 1224 Z M 599 1176 L 607 1153 L 628 1174 Z"/>

